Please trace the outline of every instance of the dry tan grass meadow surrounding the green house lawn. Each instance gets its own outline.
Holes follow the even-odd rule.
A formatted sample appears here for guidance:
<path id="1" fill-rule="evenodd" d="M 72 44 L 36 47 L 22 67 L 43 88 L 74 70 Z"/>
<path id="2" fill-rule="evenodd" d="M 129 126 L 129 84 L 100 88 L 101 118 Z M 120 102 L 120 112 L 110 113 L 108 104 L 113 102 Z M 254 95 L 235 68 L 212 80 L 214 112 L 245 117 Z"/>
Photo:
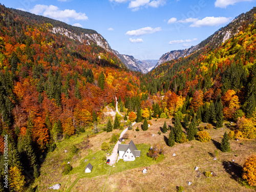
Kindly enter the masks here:
<path id="1" fill-rule="evenodd" d="M 44 171 L 35 182 L 38 191 L 47 191 L 47 186 L 54 183 L 61 184 L 62 189 L 60 191 L 66 191 L 69 187 L 71 187 L 69 188 L 70 191 L 101 191 L 104 184 L 104 191 L 176 191 L 177 186 L 183 186 L 185 191 L 254 191 L 241 186 L 238 179 L 241 177 L 241 168 L 245 159 L 256 154 L 255 139 L 232 140 L 230 141 L 231 151 L 222 153 L 219 150 L 221 137 L 225 131 L 229 131 L 224 127 L 218 130 L 207 130 L 212 138 L 207 143 L 193 140 L 182 144 L 176 143 L 175 146 L 168 147 L 165 144 L 164 136 L 168 137 L 169 131 L 165 134 L 157 134 L 164 120 L 166 120 L 167 125 L 171 122 L 170 119 L 158 119 L 157 121 L 153 119 L 151 120 L 153 125 L 145 132 L 141 131 L 141 123 L 134 125 L 134 131 L 127 131 L 129 139 L 125 143 L 132 139 L 135 144 L 154 145 L 158 143 L 165 146 L 164 160 L 148 166 L 147 174 L 142 174 L 142 169 L 146 167 L 142 165 L 139 168 L 124 170 L 120 173 L 111 173 L 109 177 L 108 174 L 93 178 L 79 178 L 76 174 L 62 177 L 58 166 L 67 158 L 65 156 L 68 154 L 56 151 L 54 156 L 48 155 L 42 166 Z M 135 131 L 137 126 L 139 126 L 139 132 Z M 115 132 L 119 131 L 115 130 Z M 91 150 L 93 152 L 100 150 L 101 143 L 108 142 L 111 134 L 104 132 L 90 138 L 90 143 L 93 145 Z M 155 136 L 152 137 L 152 134 Z M 82 140 L 77 138 L 70 142 L 78 144 Z M 58 148 L 57 150 L 63 149 Z M 215 150 L 219 153 L 217 160 L 214 160 Z M 176 154 L 175 157 L 173 157 L 173 153 Z M 81 154 L 81 158 L 83 158 L 83 155 L 88 154 L 88 150 L 81 152 Z M 56 159 L 56 161 L 50 162 L 51 158 Z M 233 162 L 232 159 L 235 161 Z M 194 170 L 195 166 L 199 167 L 198 171 Z M 54 170 L 49 170 L 49 167 Z M 214 177 L 206 178 L 202 174 L 207 170 L 213 172 Z M 193 184 L 188 186 L 187 181 L 191 181 Z"/>

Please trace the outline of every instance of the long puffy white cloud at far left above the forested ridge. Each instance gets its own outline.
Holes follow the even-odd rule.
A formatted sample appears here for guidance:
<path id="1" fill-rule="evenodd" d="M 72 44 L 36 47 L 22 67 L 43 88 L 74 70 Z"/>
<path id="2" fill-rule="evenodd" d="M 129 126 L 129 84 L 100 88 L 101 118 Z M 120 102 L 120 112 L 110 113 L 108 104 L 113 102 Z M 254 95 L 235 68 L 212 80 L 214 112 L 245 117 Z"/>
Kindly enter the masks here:
<path id="1" fill-rule="evenodd" d="M 30 9 L 31 13 L 41 14 L 46 17 L 68 21 L 69 18 L 75 20 L 87 20 L 88 16 L 85 13 L 77 13 L 75 10 L 65 9 L 60 10 L 58 7 L 50 5 L 35 5 L 33 9 Z"/>

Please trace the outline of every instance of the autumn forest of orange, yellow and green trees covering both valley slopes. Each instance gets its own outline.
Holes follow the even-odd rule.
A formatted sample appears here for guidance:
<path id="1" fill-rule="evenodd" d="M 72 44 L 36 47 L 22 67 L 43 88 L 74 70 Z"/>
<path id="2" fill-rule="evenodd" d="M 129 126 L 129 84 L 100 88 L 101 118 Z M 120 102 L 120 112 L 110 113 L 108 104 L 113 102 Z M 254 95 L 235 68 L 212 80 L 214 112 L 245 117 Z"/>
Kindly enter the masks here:
<path id="1" fill-rule="evenodd" d="M 205 41 L 200 51 L 145 75 L 95 44 L 51 32 L 77 28 L 2 5 L 0 18 L 0 178 L 8 135 L 10 191 L 28 188 L 57 141 L 93 127 L 96 134 L 115 97 L 124 120 L 174 117 L 177 143 L 193 140 L 200 122 L 218 129 L 224 120 L 237 122 L 236 137 L 256 137 L 255 15 L 221 46 Z"/>

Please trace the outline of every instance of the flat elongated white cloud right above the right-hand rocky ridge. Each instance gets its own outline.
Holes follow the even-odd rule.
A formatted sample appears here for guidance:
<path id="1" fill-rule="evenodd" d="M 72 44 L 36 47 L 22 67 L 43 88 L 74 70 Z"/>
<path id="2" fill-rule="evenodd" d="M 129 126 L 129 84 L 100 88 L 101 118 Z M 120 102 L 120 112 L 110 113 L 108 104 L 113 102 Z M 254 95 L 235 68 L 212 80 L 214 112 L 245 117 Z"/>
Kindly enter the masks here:
<path id="1" fill-rule="evenodd" d="M 230 19 L 230 17 L 205 17 L 202 20 L 197 20 L 189 27 L 218 26 L 229 22 Z"/>

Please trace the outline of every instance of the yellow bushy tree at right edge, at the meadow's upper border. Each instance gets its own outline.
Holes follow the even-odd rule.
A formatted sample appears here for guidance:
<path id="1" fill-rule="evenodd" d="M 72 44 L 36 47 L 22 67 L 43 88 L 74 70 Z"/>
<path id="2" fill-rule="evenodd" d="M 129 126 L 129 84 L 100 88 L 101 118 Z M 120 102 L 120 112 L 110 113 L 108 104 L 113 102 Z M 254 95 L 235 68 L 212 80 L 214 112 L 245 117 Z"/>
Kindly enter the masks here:
<path id="1" fill-rule="evenodd" d="M 237 128 L 243 134 L 243 138 L 253 139 L 256 137 L 256 127 L 251 119 L 245 117 L 239 117 L 237 122 Z"/>

